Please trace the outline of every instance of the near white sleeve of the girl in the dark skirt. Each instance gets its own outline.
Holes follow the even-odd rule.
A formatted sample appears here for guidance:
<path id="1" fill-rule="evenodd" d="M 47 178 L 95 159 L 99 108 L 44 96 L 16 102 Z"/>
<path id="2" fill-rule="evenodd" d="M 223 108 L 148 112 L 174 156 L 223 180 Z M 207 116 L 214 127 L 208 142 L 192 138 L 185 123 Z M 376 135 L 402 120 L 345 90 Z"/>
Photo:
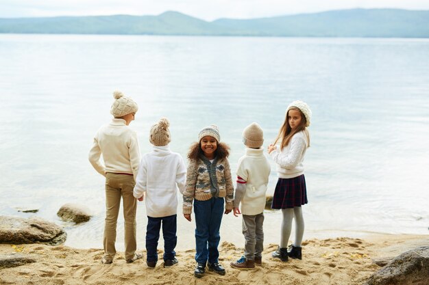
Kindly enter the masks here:
<path id="1" fill-rule="evenodd" d="M 302 152 L 306 148 L 306 141 L 302 137 L 294 137 L 291 140 L 291 148 L 289 152 L 278 152 L 273 150 L 270 154 L 271 158 L 280 167 L 291 169 L 299 163 Z"/>

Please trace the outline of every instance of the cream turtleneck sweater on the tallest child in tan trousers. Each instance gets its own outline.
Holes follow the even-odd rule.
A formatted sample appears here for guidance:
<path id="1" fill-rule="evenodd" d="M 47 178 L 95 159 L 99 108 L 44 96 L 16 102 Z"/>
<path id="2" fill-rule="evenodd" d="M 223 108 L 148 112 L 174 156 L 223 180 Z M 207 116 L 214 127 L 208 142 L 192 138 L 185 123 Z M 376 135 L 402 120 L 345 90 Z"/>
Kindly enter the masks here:
<path id="1" fill-rule="evenodd" d="M 104 164 L 100 161 L 103 154 Z M 99 174 L 106 172 L 133 174 L 136 180 L 140 149 L 136 132 L 123 119 L 112 119 L 110 124 L 101 126 L 94 137 L 88 159 Z"/>

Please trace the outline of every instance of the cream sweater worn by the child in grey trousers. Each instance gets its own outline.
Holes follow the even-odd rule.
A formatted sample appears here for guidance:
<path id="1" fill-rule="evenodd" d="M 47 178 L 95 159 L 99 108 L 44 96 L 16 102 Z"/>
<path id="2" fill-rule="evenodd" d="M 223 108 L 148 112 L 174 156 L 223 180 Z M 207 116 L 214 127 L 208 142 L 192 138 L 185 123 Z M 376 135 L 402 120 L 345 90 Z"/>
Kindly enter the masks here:
<path id="1" fill-rule="evenodd" d="M 265 192 L 267 192 L 269 173 L 271 167 L 263 148 L 246 148 L 245 156 L 238 160 L 237 176 L 243 178 L 245 193 L 241 200 L 241 213 L 243 215 L 258 215 L 265 208 Z M 238 193 L 236 193 L 238 194 Z M 236 199 L 240 199 L 239 194 Z M 236 201 L 234 201 L 236 206 Z"/>

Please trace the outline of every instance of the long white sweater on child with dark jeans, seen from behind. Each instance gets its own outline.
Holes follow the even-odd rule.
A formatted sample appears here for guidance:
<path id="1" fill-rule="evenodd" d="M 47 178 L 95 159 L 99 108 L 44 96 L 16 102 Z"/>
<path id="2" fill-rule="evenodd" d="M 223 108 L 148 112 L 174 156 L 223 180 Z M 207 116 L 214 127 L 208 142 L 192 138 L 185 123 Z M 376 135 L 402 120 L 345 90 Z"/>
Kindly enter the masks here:
<path id="1" fill-rule="evenodd" d="M 146 192 L 146 213 L 149 217 L 177 214 L 177 189 L 185 190 L 186 167 L 180 154 L 171 152 L 169 145 L 154 146 L 143 155 L 138 167 L 134 197 Z"/>

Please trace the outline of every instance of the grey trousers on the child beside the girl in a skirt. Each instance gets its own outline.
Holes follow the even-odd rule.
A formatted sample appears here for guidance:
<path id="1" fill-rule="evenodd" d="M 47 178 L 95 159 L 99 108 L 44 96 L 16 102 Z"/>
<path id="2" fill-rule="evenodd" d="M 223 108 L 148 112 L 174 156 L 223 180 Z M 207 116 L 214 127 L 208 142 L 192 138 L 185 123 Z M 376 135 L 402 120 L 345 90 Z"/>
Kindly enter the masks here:
<path id="1" fill-rule="evenodd" d="M 245 237 L 244 255 L 246 260 L 262 257 L 264 250 L 264 213 L 243 215 L 243 234 Z"/>

